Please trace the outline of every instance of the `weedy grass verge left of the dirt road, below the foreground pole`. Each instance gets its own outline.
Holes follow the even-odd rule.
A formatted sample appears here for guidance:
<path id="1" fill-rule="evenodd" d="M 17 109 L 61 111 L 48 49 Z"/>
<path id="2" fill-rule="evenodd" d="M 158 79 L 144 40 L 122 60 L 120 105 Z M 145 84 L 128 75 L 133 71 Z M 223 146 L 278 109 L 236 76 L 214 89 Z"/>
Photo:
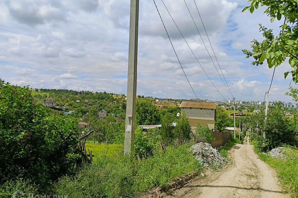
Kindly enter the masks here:
<path id="1" fill-rule="evenodd" d="M 124 156 L 94 158 L 75 176 L 54 183 L 53 194 L 72 198 L 134 197 L 154 186 L 165 187 L 174 177 L 201 170 L 201 164 L 189 152 L 190 144 L 167 147 L 140 162 Z"/>

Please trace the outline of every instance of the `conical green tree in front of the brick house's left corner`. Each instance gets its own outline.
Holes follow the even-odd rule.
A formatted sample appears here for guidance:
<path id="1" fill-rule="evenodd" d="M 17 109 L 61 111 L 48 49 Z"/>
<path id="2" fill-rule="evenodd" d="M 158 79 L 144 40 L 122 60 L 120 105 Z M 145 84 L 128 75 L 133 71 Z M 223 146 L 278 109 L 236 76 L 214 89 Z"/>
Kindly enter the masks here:
<path id="1" fill-rule="evenodd" d="M 178 137 L 178 132 L 180 131 L 180 140 L 190 140 L 191 127 L 187 116 L 184 113 L 181 113 L 177 119 L 177 124 L 174 129 L 175 136 Z"/>

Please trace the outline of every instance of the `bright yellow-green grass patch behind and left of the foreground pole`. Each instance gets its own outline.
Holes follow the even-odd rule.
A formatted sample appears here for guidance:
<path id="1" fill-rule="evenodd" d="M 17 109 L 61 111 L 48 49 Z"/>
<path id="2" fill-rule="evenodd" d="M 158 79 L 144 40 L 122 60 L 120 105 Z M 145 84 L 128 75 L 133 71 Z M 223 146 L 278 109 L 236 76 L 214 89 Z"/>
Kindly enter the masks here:
<path id="1" fill-rule="evenodd" d="M 92 151 L 94 157 L 112 157 L 112 156 L 121 156 L 123 153 L 124 146 L 123 144 L 94 144 L 94 142 L 90 141 L 86 143 L 86 150 L 88 149 Z"/>

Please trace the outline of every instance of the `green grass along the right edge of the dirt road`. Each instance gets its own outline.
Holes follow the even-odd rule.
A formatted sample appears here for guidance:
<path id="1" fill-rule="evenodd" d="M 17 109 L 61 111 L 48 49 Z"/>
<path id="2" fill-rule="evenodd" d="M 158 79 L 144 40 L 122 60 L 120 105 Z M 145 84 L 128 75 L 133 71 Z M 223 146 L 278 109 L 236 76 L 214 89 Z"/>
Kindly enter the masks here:
<path id="1" fill-rule="evenodd" d="M 277 172 L 282 188 L 289 193 L 290 197 L 298 197 L 298 150 L 286 147 L 287 159 L 276 159 L 267 154 L 263 155 L 255 151 L 260 159 Z"/>

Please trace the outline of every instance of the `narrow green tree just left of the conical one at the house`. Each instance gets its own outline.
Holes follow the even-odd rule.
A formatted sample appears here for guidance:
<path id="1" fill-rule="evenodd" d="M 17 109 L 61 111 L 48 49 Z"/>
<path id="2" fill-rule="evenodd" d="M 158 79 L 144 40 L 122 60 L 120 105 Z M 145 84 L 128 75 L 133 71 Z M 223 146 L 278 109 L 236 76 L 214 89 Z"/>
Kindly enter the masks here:
<path id="1" fill-rule="evenodd" d="M 173 133 L 173 121 L 174 118 L 169 113 L 166 113 L 161 119 L 160 136 L 165 144 L 172 143 L 175 138 Z"/>

